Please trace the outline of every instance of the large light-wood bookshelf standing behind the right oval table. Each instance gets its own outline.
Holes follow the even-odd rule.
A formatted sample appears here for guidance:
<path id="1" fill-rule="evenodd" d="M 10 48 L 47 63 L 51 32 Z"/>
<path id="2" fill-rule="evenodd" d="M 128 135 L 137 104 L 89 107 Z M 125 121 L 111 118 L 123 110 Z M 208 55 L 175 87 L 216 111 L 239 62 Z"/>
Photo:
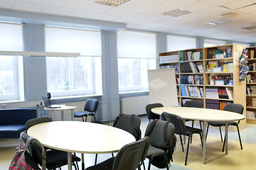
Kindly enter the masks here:
<path id="1" fill-rule="evenodd" d="M 240 103 L 244 108 L 246 108 L 246 82 L 245 81 L 239 81 L 240 77 L 240 67 L 239 67 L 239 60 L 240 60 L 240 55 L 242 53 L 242 50 L 245 48 L 245 45 L 221 45 L 221 46 L 216 46 L 216 47 L 204 47 L 204 48 L 196 48 L 196 49 L 189 49 L 189 50 L 181 50 L 181 51 L 174 51 L 174 52 L 161 52 L 159 53 L 159 57 L 163 57 L 166 55 L 178 55 L 178 62 L 176 62 L 176 67 L 177 67 L 177 73 L 176 77 L 178 78 L 178 84 L 177 84 L 177 89 L 178 89 L 178 102 L 179 105 L 182 106 L 183 100 L 200 100 L 203 101 L 204 108 L 206 108 L 206 100 L 214 100 L 214 101 L 219 101 L 219 102 L 233 102 L 233 103 Z M 215 55 L 213 55 L 212 58 L 208 56 L 208 51 L 209 50 L 218 50 L 218 52 L 226 52 L 231 49 L 231 52 L 228 53 L 229 55 L 224 55 L 224 58 L 215 58 Z M 201 52 L 201 58 L 200 60 L 193 60 L 193 57 L 191 60 L 186 60 L 184 61 L 184 54 L 185 52 Z M 226 58 L 226 56 L 229 56 Z M 189 62 L 201 62 L 201 65 L 203 67 L 203 72 L 184 72 L 183 68 L 185 63 Z M 225 69 L 225 72 L 223 72 L 223 68 L 220 67 L 220 70 L 214 69 L 209 70 L 209 63 L 218 63 L 218 64 L 225 64 L 225 68 L 227 68 L 228 63 L 230 64 L 230 67 L 233 68 L 230 70 Z M 164 67 L 167 67 L 166 64 L 160 63 L 159 62 L 159 68 L 164 69 Z M 256 72 L 255 72 L 256 74 Z M 203 83 L 202 84 L 184 84 L 181 82 L 184 82 L 181 80 L 183 76 L 203 76 Z M 211 79 L 213 76 L 217 76 L 218 78 L 220 77 L 226 77 L 228 79 L 227 82 L 232 82 L 230 79 L 233 79 L 233 83 L 231 84 L 225 84 L 226 81 L 223 81 L 223 84 L 213 84 L 212 81 L 215 81 Z M 255 75 L 256 76 L 256 75 Z M 256 78 L 256 77 L 255 77 Z M 220 82 L 220 81 L 219 81 Z M 183 96 L 181 92 L 181 86 L 188 86 L 188 87 L 193 87 L 195 86 L 197 89 L 202 88 L 203 89 L 203 96 Z M 255 84 L 256 86 L 256 84 Z M 233 97 L 232 99 L 230 98 L 207 98 L 206 97 L 206 91 L 207 89 L 214 89 L 214 88 L 219 88 L 219 89 L 226 89 L 228 88 L 230 91 L 233 91 Z M 182 87 L 183 89 L 183 87 Z M 255 108 L 256 111 L 256 108 Z M 243 113 L 243 115 L 246 115 L 246 109 Z M 240 121 L 240 128 L 245 128 L 246 127 L 246 120 Z M 235 131 L 235 128 L 230 128 Z"/>

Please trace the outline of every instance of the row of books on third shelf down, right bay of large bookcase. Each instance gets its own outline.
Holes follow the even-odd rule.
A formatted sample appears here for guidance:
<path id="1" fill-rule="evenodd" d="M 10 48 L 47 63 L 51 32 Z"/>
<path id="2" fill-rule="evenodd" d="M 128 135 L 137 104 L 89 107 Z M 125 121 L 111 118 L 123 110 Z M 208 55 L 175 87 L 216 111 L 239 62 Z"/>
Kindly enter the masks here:
<path id="1" fill-rule="evenodd" d="M 210 75 L 208 77 L 210 85 L 233 85 L 233 75 Z"/>

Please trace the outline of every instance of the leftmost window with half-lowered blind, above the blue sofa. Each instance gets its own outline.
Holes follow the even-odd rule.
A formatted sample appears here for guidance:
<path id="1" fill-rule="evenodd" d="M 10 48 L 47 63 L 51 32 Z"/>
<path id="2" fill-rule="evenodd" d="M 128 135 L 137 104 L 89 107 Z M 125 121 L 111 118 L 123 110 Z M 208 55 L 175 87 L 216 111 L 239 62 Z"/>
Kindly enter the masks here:
<path id="1" fill-rule="evenodd" d="M 0 50 L 23 51 L 23 25 L 0 23 Z M 0 55 L 0 101 L 23 99 L 23 57 Z"/>

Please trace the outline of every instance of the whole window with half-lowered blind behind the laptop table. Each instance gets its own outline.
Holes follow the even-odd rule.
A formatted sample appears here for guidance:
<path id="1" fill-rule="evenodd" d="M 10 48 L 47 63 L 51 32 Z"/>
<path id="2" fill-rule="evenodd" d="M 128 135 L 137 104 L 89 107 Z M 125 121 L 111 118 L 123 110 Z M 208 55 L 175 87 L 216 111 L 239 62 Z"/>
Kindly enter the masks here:
<path id="1" fill-rule="evenodd" d="M 79 52 L 81 57 L 46 57 L 52 96 L 102 94 L 100 31 L 45 27 L 46 52 Z"/>

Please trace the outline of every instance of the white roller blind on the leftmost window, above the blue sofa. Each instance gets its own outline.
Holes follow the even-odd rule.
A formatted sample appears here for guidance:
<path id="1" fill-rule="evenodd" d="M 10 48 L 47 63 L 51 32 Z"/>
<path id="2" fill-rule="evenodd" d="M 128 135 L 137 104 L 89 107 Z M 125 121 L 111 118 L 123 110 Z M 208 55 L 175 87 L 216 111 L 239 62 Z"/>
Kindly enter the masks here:
<path id="1" fill-rule="evenodd" d="M 23 25 L 0 23 L 0 50 L 23 51 Z"/>

